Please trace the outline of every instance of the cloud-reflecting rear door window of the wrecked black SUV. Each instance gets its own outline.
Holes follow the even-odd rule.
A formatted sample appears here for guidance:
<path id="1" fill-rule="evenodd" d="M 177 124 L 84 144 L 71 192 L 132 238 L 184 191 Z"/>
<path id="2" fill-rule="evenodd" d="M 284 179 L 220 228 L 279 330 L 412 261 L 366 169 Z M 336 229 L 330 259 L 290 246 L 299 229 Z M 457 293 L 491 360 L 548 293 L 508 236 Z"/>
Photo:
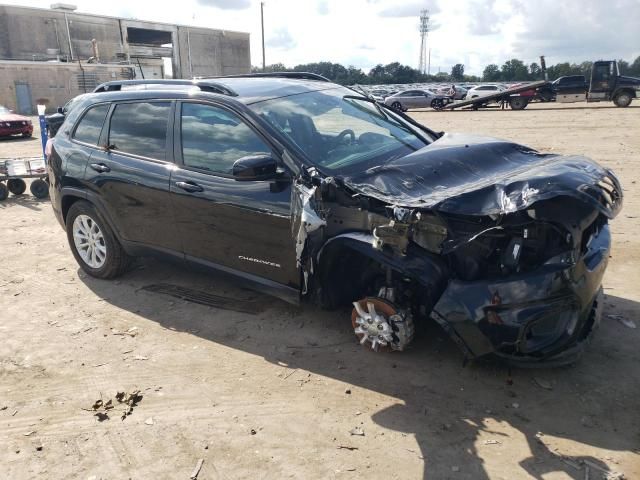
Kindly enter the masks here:
<path id="1" fill-rule="evenodd" d="M 109 146 L 114 151 L 166 160 L 171 102 L 120 103 L 111 116 Z"/>

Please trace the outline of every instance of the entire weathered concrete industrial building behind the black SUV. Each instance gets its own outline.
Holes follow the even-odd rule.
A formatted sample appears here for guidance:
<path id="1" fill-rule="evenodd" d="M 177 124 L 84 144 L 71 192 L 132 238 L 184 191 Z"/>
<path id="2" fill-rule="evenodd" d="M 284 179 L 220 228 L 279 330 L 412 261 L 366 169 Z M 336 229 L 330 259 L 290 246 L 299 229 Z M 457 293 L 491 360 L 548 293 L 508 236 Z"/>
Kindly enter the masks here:
<path id="1" fill-rule="evenodd" d="M 0 5 L 0 105 L 31 115 L 55 110 L 97 85 L 123 78 L 249 73 L 249 34 Z"/>

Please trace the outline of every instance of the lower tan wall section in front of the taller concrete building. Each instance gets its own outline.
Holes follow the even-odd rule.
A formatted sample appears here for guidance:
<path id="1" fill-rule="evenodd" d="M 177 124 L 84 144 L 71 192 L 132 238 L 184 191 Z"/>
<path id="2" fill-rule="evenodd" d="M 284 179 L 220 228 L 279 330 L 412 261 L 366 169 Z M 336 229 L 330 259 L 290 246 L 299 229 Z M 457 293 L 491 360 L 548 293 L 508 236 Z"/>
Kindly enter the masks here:
<path id="1" fill-rule="evenodd" d="M 35 114 L 36 104 L 47 105 L 47 113 L 64 105 L 97 84 L 129 78 L 133 68 L 122 65 L 0 61 L 0 105 L 25 115 Z M 29 85 L 31 110 L 19 111 L 16 83 Z M 86 87 L 86 88 L 85 88 Z"/>

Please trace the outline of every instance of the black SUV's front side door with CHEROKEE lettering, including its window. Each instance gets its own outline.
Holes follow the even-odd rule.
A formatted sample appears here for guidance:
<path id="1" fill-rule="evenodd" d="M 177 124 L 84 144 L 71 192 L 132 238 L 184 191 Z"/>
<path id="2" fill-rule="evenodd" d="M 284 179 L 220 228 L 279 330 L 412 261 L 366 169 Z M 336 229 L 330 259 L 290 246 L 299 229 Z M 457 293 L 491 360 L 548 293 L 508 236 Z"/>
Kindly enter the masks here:
<path id="1" fill-rule="evenodd" d="M 266 140 L 221 106 L 178 108 L 171 192 L 186 258 L 297 288 L 291 184 L 231 175 L 239 158 L 273 154 Z"/>

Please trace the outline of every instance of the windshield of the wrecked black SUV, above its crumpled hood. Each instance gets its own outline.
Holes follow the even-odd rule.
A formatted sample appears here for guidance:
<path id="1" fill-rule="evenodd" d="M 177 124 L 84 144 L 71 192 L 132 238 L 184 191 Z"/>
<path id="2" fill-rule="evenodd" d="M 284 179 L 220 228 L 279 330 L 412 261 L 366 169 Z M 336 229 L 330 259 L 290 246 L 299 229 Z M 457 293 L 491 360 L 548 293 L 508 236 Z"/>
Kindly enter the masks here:
<path id="1" fill-rule="evenodd" d="M 430 143 L 426 133 L 346 88 L 250 105 L 322 170 L 353 173 Z"/>

